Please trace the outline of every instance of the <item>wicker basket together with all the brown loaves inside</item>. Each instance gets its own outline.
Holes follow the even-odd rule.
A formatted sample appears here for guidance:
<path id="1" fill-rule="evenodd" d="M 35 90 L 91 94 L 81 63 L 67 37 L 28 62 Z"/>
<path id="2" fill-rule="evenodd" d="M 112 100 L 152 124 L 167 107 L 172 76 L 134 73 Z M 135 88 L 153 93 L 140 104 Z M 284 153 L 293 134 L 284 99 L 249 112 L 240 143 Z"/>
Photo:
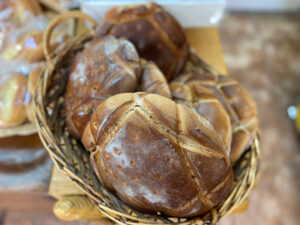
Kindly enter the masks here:
<path id="1" fill-rule="evenodd" d="M 34 101 L 59 168 L 121 224 L 215 224 L 234 210 L 260 168 L 250 95 L 192 62 L 182 28 L 154 3 L 112 8 L 51 52 L 55 26 L 74 17 L 95 24 L 70 12 L 49 25 Z"/>

